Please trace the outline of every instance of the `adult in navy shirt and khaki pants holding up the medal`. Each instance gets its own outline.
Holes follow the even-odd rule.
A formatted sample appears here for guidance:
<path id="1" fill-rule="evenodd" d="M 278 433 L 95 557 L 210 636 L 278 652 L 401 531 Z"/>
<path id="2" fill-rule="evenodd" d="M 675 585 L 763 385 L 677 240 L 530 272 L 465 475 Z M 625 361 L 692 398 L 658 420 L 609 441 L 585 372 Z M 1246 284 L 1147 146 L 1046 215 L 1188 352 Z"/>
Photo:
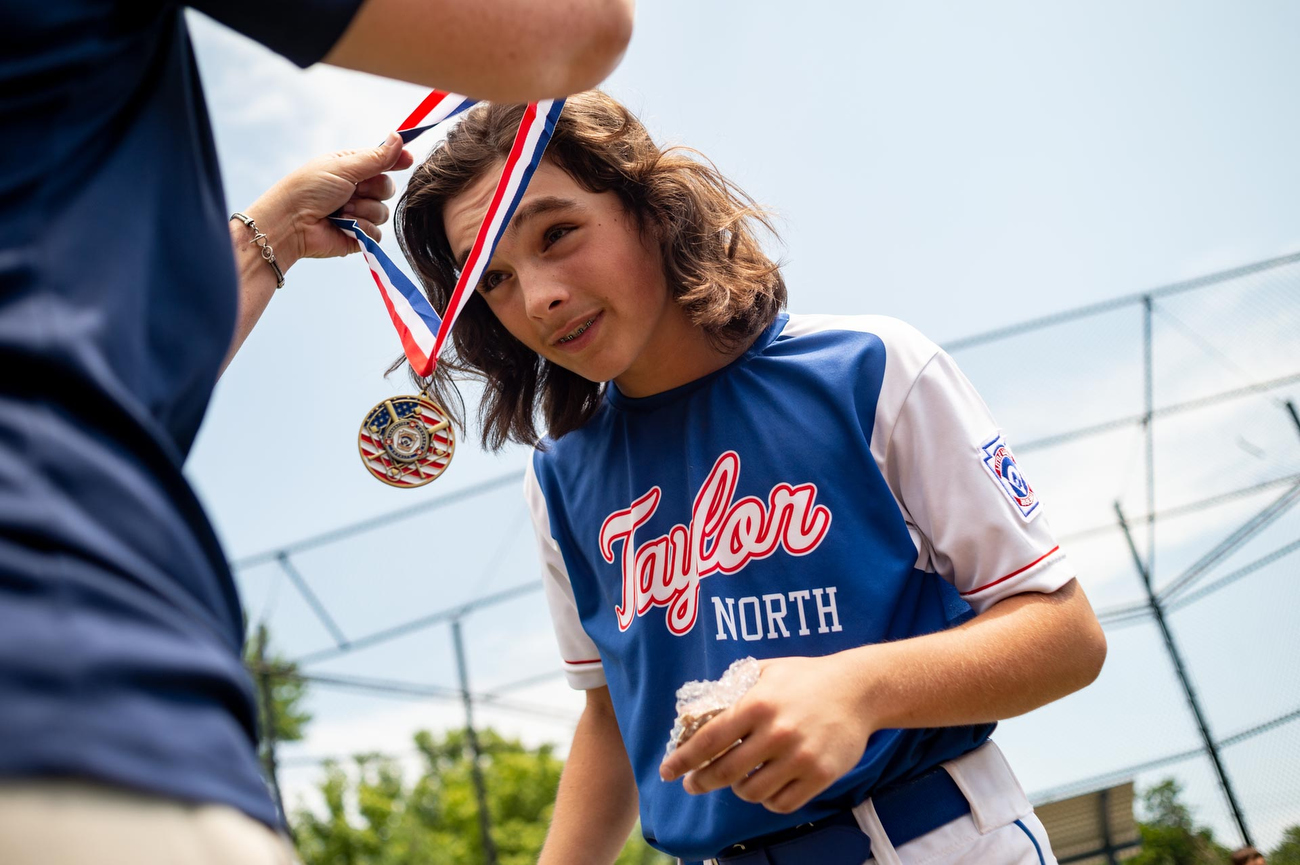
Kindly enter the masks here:
<path id="1" fill-rule="evenodd" d="M 598 82 L 630 0 L 195 0 L 300 66 Z M 229 221 L 182 4 L 0 0 L 0 861 L 285 861 L 243 613 L 182 475 L 278 276 Z M 406 161 L 403 161 L 406 160 Z M 247 208 L 281 271 L 386 219 L 396 135 Z M 234 250 L 234 252 L 233 252 Z"/>

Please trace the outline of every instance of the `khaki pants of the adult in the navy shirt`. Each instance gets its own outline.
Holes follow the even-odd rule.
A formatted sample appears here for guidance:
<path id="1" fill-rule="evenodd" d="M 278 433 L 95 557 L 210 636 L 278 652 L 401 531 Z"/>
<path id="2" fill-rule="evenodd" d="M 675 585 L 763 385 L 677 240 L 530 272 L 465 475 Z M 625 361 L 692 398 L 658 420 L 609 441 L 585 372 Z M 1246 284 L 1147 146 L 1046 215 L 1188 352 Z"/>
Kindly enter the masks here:
<path id="1" fill-rule="evenodd" d="M 81 782 L 0 783 L 4 865 L 292 865 L 243 812 Z"/>

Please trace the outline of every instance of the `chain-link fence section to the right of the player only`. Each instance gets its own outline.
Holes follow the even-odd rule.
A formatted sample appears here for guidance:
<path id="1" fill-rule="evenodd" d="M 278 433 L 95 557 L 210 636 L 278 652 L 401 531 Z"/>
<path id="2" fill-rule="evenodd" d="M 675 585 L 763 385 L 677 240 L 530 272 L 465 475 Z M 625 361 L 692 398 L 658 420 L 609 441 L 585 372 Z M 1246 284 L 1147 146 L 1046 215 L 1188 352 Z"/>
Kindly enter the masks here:
<path id="1" fill-rule="evenodd" d="M 1297 334 L 1292 255 L 948 346 L 1110 644 L 1093 687 L 1002 725 L 1036 801 L 1173 777 L 1230 845 L 1300 823 Z"/>

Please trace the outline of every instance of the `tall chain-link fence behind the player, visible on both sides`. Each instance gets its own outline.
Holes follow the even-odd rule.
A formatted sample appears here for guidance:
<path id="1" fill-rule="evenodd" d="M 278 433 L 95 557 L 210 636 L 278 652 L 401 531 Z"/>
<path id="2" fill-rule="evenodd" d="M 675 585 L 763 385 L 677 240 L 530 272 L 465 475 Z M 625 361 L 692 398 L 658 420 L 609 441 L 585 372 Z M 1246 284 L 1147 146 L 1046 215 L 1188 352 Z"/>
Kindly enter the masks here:
<path id="1" fill-rule="evenodd" d="M 1300 823 L 1297 334 L 1300 254 L 945 346 L 1110 645 L 1092 687 L 1001 725 L 1036 803 L 1173 777 L 1230 845 L 1268 848 Z M 478 723 L 567 743 L 581 697 L 551 645 L 521 476 L 233 563 L 251 620 L 312 685 L 308 740 L 280 749 L 291 810 L 311 805 L 324 758 L 415 761 L 410 732 L 463 726 L 467 697 Z"/>

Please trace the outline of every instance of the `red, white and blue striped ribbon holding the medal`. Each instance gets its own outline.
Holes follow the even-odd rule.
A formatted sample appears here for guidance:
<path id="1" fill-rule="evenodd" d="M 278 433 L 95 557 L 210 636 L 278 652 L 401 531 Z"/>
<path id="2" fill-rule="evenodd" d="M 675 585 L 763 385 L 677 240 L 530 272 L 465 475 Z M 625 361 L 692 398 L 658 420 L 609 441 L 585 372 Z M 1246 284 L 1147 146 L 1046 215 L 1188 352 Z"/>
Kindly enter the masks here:
<path id="1" fill-rule="evenodd" d="M 398 133 L 403 140 L 410 142 L 420 133 L 455 117 L 472 104 L 473 100 L 465 96 L 434 91 L 407 117 Z M 542 153 L 555 131 L 555 121 L 559 120 L 563 108 L 563 99 L 546 99 L 529 104 L 524 111 L 524 118 L 515 134 L 515 143 L 506 159 L 500 180 L 497 182 L 497 191 L 493 194 L 488 213 L 478 226 L 474 245 L 469 250 L 469 256 L 465 259 L 460 277 L 456 280 L 456 287 L 452 290 L 447 310 L 442 316 L 434 311 L 429 299 L 411 278 L 380 248 L 380 245 L 360 229 L 356 220 L 330 219 L 335 226 L 344 234 L 354 237 L 361 246 L 374 285 L 378 286 L 384 306 L 393 319 L 393 326 L 396 328 L 398 336 L 402 338 L 407 360 L 411 362 L 411 367 L 417 375 L 433 375 L 451 328 L 469 298 L 473 297 L 474 286 L 478 285 L 484 269 L 497 250 L 500 235 L 510 225 L 510 217 L 515 215 L 515 208 L 519 207 L 519 202 L 528 189 L 528 182 L 533 178 L 533 172 L 542 161 Z"/>

